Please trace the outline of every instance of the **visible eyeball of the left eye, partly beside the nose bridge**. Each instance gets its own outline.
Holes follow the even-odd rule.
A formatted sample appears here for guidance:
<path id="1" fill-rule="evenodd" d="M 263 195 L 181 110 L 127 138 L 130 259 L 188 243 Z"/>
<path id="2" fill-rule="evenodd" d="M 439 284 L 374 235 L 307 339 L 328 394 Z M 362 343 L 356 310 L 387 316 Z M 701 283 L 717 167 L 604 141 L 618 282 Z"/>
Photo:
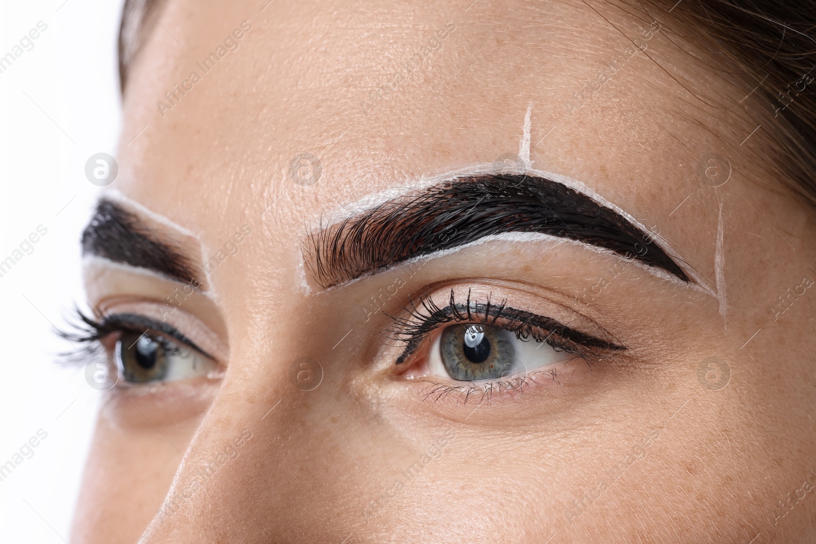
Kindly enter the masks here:
<path id="1" fill-rule="evenodd" d="M 123 331 L 113 348 L 120 378 L 126 383 L 174 381 L 206 376 L 215 361 L 160 334 Z"/>

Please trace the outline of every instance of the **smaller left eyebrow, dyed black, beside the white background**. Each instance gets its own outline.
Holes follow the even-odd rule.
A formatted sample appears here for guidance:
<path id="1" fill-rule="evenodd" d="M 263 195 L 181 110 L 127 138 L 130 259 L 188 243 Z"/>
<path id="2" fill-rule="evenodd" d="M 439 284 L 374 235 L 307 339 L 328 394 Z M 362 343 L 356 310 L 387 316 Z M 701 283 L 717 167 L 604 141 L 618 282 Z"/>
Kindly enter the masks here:
<path id="1" fill-rule="evenodd" d="M 171 280 L 201 284 L 187 255 L 160 240 L 135 214 L 108 200 L 96 205 L 82 232 L 82 255 L 97 255 L 153 270 Z"/>

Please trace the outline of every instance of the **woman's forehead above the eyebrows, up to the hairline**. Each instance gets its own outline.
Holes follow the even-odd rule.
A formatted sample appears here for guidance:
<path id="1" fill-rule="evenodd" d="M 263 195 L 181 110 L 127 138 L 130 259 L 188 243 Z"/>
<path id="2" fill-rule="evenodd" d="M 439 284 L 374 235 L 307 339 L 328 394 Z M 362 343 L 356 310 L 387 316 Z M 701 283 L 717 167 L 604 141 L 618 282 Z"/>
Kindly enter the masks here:
<path id="1" fill-rule="evenodd" d="M 118 188 L 204 237 L 273 203 L 264 220 L 294 233 L 528 148 L 541 170 L 668 214 L 697 188 L 694 162 L 715 136 L 651 58 L 673 55 L 658 24 L 628 11 L 170 2 L 131 69 Z"/>

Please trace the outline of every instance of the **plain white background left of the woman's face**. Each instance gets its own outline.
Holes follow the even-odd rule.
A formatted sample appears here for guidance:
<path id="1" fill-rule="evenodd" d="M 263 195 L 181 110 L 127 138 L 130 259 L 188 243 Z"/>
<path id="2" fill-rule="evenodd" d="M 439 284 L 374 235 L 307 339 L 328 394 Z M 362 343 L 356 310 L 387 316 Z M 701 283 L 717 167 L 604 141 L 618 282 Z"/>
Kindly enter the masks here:
<path id="1" fill-rule="evenodd" d="M 69 540 L 100 392 L 61 369 L 51 332 L 83 306 L 79 238 L 99 188 L 95 153 L 115 155 L 120 125 L 119 0 L 0 0 L 0 56 L 38 21 L 31 51 L 0 73 L 0 261 L 42 224 L 47 234 L 0 277 L 0 465 L 48 433 L 0 481 L 0 542 Z M 72 141 L 73 140 L 73 141 Z"/>

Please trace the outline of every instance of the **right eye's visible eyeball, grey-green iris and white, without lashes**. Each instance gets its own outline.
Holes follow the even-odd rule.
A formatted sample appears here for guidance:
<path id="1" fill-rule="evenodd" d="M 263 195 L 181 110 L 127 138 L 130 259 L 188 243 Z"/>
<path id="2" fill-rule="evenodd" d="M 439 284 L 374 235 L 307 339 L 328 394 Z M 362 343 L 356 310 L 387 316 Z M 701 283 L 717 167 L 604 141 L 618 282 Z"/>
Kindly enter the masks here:
<path id="1" fill-rule="evenodd" d="M 517 338 L 496 325 L 450 325 L 428 353 L 429 374 L 476 382 L 526 374 L 574 359 L 544 342 Z"/>

